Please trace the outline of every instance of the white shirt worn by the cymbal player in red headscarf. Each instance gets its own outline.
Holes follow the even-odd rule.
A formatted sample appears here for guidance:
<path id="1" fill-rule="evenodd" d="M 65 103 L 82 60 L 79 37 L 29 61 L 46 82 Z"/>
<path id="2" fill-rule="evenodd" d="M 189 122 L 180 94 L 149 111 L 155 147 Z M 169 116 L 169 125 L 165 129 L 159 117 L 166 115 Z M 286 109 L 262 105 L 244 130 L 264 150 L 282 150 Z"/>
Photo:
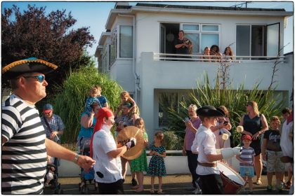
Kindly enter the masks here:
<path id="1" fill-rule="evenodd" d="M 117 145 L 110 132 L 110 127 L 103 125 L 101 130 L 93 136 L 93 159 L 96 160 L 94 171 L 99 183 L 114 183 L 123 179 L 120 158 L 110 158 L 107 153 L 117 149 Z M 100 178 L 96 172 L 103 174 Z"/>

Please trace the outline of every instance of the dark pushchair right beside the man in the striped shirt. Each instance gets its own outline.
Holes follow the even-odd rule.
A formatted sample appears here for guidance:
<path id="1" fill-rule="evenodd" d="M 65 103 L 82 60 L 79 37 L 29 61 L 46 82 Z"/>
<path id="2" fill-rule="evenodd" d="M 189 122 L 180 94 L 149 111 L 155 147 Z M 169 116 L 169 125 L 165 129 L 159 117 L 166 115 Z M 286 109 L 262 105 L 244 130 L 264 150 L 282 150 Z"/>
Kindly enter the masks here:
<path id="1" fill-rule="evenodd" d="M 58 158 L 54 158 L 53 164 L 47 164 L 46 165 L 46 174 L 44 177 L 44 183 L 47 181 L 48 173 L 53 171 L 53 179 L 48 183 L 48 186 L 45 186 L 44 188 L 44 194 L 45 195 L 52 195 L 52 193 L 49 193 L 53 190 L 53 194 L 61 195 L 63 194 L 63 190 L 60 188 L 60 183 L 58 182 Z"/>

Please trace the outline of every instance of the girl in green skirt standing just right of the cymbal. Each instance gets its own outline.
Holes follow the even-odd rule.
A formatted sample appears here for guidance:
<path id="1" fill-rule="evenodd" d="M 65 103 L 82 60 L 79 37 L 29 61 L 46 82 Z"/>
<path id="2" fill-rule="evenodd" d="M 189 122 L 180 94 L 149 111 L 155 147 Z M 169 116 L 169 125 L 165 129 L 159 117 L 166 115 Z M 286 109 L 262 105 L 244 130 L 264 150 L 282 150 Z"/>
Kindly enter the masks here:
<path id="1" fill-rule="evenodd" d="M 134 124 L 138 127 L 141 132 L 143 132 L 143 137 L 145 139 L 145 147 L 148 144 L 147 140 L 147 133 L 145 132 L 145 123 L 143 118 L 137 118 Z M 133 188 L 136 189 L 135 192 L 139 193 L 143 191 L 143 172 L 147 171 L 147 155 L 145 153 L 145 149 L 143 149 L 143 153 L 136 158 L 135 160 L 131 160 L 131 172 L 136 172 L 136 178 L 138 181 L 138 186 L 134 186 Z"/>

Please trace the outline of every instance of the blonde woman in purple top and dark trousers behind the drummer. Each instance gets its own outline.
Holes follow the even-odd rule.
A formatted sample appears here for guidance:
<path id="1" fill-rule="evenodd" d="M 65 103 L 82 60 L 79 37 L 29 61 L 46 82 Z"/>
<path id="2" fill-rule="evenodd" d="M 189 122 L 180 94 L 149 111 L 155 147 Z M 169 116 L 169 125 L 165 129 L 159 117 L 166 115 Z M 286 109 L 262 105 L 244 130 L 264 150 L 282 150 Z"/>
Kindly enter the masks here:
<path id="1" fill-rule="evenodd" d="M 188 116 L 189 118 L 185 118 L 185 139 L 183 143 L 183 155 L 188 156 L 188 168 L 190 169 L 190 174 L 192 174 L 192 188 L 187 188 L 187 190 L 193 190 L 195 193 L 196 181 L 198 179 L 198 175 L 196 174 L 197 169 L 197 154 L 192 153 L 192 141 L 195 139 L 195 134 L 197 133 L 197 129 L 201 124 L 201 120 L 197 116 L 197 106 L 195 104 L 190 104 L 188 106 Z"/>

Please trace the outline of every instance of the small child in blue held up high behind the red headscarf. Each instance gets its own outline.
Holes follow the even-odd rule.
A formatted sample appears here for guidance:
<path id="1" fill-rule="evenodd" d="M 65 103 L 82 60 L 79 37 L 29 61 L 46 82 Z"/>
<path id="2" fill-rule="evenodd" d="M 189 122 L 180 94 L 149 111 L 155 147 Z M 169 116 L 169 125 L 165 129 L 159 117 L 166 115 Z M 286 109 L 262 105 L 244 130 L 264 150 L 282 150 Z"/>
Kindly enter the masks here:
<path id="1" fill-rule="evenodd" d="M 98 102 L 98 104 L 100 104 L 100 107 L 109 107 L 109 105 L 107 104 L 107 98 L 105 98 L 105 96 L 101 95 L 101 87 L 99 85 L 95 85 L 91 88 L 90 92 L 89 92 L 89 97 L 87 97 L 86 99 L 86 103 L 85 103 L 85 112 L 91 113 L 92 109 L 91 109 L 91 105 L 94 102 Z"/>

